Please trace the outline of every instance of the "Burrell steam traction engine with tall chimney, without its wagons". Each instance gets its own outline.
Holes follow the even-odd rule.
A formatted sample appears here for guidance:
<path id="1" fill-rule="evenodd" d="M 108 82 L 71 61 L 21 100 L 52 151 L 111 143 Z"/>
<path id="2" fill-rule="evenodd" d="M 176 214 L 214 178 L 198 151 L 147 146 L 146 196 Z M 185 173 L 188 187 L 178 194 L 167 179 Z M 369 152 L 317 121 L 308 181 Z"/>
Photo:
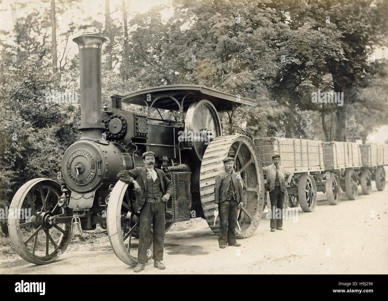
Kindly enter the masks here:
<path id="1" fill-rule="evenodd" d="M 139 225 L 132 209 L 135 195 L 116 175 L 143 166 L 141 154 L 147 150 L 155 152 L 155 167 L 165 170 L 174 186 L 166 231 L 175 221 L 201 217 L 218 233 L 219 221 L 213 226 L 215 176 L 222 159 L 233 156 L 246 187 L 236 231 L 239 237 L 252 235 L 264 203 L 262 164 L 251 139 L 222 136 L 218 112 L 255 106 L 255 101 L 204 86 L 170 85 L 113 95 L 111 109 L 104 106 L 102 111 L 101 46 L 106 39 L 86 33 L 73 41 L 80 50 L 81 138 L 63 156 L 64 185 L 33 179 L 12 199 L 10 208 L 31 209 L 32 215 L 8 220 L 17 253 L 31 263 L 50 263 L 65 251 L 72 235 L 99 224 L 107 228 L 116 255 L 136 265 L 137 249 L 131 243 Z M 123 103 L 145 106 L 147 115 L 125 111 Z M 180 118 L 151 118 L 152 109 L 175 111 Z M 152 250 L 152 234 L 150 243 Z"/>

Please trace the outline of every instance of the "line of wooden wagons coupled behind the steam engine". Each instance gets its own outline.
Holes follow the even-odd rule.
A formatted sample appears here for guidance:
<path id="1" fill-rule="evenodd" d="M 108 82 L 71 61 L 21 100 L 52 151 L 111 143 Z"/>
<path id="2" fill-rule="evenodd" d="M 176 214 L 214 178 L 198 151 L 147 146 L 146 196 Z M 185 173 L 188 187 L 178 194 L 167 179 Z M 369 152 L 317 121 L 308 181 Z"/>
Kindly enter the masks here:
<path id="1" fill-rule="evenodd" d="M 372 180 L 377 190 L 385 189 L 388 165 L 387 144 L 322 142 L 295 138 L 253 139 L 263 166 L 272 164 L 272 155 L 281 154 L 282 165 L 293 173 L 287 187 L 288 206 L 311 212 L 317 204 L 317 192 L 326 193 L 331 205 L 338 204 L 341 189 L 350 200 L 357 198 L 358 185 L 370 194 Z M 267 202 L 267 197 L 265 197 Z"/>

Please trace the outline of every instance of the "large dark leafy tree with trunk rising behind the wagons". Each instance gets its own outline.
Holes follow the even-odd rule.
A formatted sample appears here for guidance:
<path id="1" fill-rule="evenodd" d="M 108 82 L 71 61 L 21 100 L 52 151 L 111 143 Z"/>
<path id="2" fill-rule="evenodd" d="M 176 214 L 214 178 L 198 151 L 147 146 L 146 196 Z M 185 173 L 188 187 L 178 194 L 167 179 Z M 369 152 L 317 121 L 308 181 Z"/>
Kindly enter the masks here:
<path id="1" fill-rule="evenodd" d="M 289 24 L 279 43 L 279 60 L 281 55 L 287 59 L 274 90 L 280 97 L 288 96 L 291 105 L 320 111 L 326 140 L 331 139 L 329 131 L 334 126 L 331 122 L 327 127 L 326 116 L 335 112 L 333 138 L 345 141 L 349 138 L 347 121 L 361 101 L 360 87 L 373 68 L 373 50 L 387 42 L 386 1 L 274 1 L 268 6 L 276 10 L 282 22 Z M 343 106 L 313 104 L 311 93 L 318 89 L 343 92 Z"/>

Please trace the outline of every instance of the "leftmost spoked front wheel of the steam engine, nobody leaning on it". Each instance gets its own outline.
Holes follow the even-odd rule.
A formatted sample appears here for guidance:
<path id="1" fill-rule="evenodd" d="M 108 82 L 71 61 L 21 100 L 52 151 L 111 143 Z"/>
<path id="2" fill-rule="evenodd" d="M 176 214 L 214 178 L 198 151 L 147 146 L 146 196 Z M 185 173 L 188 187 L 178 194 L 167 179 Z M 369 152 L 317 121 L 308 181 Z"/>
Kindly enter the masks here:
<path id="1" fill-rule="evenodd" d="M 20 187 L 9 207 L 8 230 L 16 252 L 26 261 L 42 265 L 64 253 L 71 240 L 69 224 L 50 224 L 49 218 L 66 213 L 58 206 L 61 185 L 36 178 Z"/>

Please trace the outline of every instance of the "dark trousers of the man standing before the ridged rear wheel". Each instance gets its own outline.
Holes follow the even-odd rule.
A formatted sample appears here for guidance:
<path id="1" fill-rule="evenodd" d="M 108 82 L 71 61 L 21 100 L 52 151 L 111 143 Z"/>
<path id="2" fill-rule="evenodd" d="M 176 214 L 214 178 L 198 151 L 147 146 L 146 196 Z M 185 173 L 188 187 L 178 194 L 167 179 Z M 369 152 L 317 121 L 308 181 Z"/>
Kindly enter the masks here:
<path id="1" fill-rule="evenodd" d="M 237 226 L 237 201 L 226 200 L 218 204 L 220 213 L 220 236 L 218 244 L 230 245 L 236 244 L 236 226 Z"/>

